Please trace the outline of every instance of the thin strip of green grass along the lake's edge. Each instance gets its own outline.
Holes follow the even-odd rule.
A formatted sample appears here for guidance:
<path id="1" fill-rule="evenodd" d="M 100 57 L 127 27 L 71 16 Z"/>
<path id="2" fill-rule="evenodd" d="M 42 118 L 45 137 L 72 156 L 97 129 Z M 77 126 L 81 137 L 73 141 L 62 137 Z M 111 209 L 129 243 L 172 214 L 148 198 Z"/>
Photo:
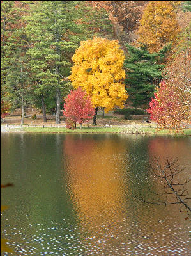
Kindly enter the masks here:
<path id="1" fill-rule="evenodd" d="M 174 135 L 173 132 L 169 132 L 169 130 L 161 130 L 157 131 L 156 128 L 139 128 L 139 127 L 83 127 L 82 129 L 75 129 L 70 130 L 66 128 L 42 128 L 42 127 L 24 127 L 24 132 L 43 132 L 43 133 L 124 133 L 124 134 L 158 134 L 158 135 Z M 190 135 L 191 136 L 191 129 L 184 129 L 183 134 L 179 133 L 180 135 Z"/>

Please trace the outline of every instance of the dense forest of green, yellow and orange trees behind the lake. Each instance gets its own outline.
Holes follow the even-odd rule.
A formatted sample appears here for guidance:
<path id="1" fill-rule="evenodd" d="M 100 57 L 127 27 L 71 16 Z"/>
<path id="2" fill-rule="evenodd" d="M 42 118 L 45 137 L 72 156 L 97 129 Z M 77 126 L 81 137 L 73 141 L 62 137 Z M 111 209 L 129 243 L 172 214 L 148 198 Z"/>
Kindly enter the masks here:
<path id="1" fill-rule="evenodd" d="M 190 122 L 190 10 L 190 1 L 1 1 L 1 116 L 21 108 L 23 124 L 33 106 L 59 124 L 80 87 L 94 121 L 98 108 L 128 102 L 160 127 L 182 129 Z"/>

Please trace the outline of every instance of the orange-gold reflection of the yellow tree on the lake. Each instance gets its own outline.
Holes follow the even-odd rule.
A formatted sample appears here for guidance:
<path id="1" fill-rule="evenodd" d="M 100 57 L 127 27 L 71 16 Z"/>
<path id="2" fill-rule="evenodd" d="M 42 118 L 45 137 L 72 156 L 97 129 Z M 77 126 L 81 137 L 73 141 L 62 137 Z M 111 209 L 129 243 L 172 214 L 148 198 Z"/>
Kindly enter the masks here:
<path id="1" fill-rule="evenodd" d="M 67 136 L 63 147 L 69 193 L 85 243 L 96 255 L 119 250 L 116 239 L 126 217 L 124 143 L 103 140 Z"/>

